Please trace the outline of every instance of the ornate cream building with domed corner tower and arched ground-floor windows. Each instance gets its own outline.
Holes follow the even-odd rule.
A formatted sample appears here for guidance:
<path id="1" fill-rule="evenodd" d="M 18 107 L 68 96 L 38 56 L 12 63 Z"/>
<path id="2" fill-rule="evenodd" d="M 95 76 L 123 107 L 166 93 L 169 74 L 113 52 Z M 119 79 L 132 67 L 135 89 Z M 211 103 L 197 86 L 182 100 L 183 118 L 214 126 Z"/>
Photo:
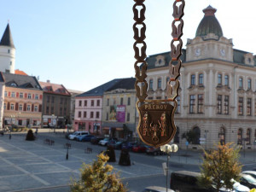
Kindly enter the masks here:
<path id="1" fill-rule="evenodd" d="M 195 38 L 183 49 L 174 142 L 185 148 L 183 133 L 194 131 L 189 148 L 212 148 L 219 141 L 253 148 L 256 140 L 256 56 L 233 49 L 208 6 Z M 170 52 L 150 55 L 148 98 L 166 98 Z"/>

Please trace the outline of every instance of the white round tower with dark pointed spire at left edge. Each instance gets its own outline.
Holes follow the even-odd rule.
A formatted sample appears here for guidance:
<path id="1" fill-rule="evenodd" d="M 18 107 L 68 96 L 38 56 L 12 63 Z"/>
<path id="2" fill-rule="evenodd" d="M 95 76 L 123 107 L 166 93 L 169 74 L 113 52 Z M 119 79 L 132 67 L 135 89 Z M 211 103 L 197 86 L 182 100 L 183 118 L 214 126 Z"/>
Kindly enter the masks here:
<path id="1" fill-rule="evenodd" d="M 0 41 L 0 71 L 15 73 L 15 44 L 9 29 L 9 23 Z"/>

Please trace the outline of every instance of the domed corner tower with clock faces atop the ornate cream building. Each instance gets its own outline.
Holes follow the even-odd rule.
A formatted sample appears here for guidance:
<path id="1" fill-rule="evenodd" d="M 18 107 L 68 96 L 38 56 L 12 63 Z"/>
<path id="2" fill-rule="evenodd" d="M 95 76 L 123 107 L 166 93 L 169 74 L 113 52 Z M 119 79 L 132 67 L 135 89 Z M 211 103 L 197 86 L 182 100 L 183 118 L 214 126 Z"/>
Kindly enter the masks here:
<path id="1" fill-rule="evenodd" d="M 203 9 L 204 17 L 197 27 L 195 38 L 188 39 L 186 61 L 218 59 L 233 61 L 232 39 L 224 38 L 222 28 L 215 17 L 217 9 Z"/>

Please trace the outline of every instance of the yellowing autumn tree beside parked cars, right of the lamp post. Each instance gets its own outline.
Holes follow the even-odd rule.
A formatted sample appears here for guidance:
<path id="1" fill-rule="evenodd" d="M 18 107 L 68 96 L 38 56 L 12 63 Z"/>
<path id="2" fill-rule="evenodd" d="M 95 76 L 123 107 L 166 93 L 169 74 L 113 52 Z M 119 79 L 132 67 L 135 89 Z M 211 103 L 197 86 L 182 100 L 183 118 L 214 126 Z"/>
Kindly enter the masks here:
<path id="1" fill-rule="evenodd" d="M 232 143 L 215 145 L 217 148 L 205 153 L 205 160 L 201 166 L 199 184 L 204 187 L 215 186 L 218 192 L 220 188 L 233 189 L 233 179 L 239 181 L 241 163 L 239 162 L 240 148 L 233 147 Z"/>

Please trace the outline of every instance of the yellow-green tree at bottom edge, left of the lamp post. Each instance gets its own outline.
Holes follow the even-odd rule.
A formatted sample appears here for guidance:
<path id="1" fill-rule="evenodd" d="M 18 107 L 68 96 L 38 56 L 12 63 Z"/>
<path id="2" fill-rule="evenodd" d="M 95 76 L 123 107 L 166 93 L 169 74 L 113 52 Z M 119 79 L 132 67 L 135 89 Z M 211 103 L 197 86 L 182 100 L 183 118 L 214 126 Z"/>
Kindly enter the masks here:
<path id="1" fill-rule="evenodd" d="M 113 173 L 113 166 L 106 165 L 108 156 L 97 155 L 93 164 L 83 164 L 79 181 L 72 180 L 72 192 L 126 192 L 119 175 Z"/>

